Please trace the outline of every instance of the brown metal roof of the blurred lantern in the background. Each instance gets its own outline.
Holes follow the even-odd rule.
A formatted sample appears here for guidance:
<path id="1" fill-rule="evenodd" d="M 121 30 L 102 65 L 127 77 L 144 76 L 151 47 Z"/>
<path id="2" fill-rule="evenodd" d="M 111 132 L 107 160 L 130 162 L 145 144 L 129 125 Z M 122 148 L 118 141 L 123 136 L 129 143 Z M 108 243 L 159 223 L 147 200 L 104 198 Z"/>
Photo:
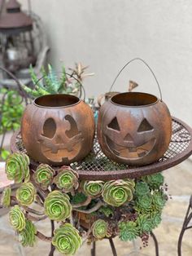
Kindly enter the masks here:
<path id="1" fill-rule="evenodd" d="M 33 29 L 33 20 L 20 10 L 20 3 L 15 0 L 7 2 L 7 12 L 0 18 L 0 32 L 15 34 Z"/>

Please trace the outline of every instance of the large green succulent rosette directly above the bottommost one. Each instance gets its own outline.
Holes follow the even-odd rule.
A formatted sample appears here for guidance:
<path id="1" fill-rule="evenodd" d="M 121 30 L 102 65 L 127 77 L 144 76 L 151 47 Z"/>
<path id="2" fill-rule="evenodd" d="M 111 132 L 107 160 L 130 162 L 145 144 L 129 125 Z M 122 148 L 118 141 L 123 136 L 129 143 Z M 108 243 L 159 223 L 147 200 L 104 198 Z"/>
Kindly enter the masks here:
<path id="1" fill-rule="evenodd" d="M 44 202 L 46 215 L 56 221 L 64 221 L 72 213 L 69 196 L 57 190 L 50 192 Z"/>

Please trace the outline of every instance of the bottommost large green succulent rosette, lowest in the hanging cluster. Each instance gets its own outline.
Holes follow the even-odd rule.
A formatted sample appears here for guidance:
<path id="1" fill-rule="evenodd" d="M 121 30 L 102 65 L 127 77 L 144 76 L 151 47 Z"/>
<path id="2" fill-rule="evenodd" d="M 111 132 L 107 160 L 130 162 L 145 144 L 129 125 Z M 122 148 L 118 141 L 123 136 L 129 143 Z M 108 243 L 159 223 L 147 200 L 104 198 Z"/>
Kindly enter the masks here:
<path id="1" fill-rule="evenodd" d="M 74 255 L 81 247 L 82 241 L 76 228 L 72 227 L 69 223 L 65 223 L 63 226 L 55 229 L 52 244 L 60 253 L 64 255 Z"/>

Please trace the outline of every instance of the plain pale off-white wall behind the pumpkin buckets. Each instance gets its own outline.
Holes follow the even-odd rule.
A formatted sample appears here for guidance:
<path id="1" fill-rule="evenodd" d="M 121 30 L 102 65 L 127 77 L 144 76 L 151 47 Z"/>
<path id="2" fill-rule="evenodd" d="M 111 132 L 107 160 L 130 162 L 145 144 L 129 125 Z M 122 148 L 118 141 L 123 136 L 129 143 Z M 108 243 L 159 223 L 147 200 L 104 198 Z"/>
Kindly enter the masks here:
<path id="1" fill-rule="evenodd" d="M 27 7 L 27 0 L 20 0 Z M 154 69 L 172 115 L 192 126 L 191 0 L 32 0 L 50 44 L 50 62 L 59 70 L 75 61 L 89 64 L 88 95 L 109 89 L 126 61 L 142 57 Z M 158 95 L 148 70 L 132 64 L 114 90 L 129 79 Z"/>

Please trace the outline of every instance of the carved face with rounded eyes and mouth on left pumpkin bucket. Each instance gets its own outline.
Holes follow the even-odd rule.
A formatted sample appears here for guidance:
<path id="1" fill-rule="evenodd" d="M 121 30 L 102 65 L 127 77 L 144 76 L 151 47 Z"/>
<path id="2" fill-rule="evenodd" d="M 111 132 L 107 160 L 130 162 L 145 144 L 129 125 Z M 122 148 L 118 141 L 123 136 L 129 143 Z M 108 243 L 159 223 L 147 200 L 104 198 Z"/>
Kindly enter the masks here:
<path id="1" fill-rule="evenodd" d="M 81 150 L 83 137 L 70 115 L 46 119 L 38 142 L 42 154 L 50 161 L 72 161 Z"/>

